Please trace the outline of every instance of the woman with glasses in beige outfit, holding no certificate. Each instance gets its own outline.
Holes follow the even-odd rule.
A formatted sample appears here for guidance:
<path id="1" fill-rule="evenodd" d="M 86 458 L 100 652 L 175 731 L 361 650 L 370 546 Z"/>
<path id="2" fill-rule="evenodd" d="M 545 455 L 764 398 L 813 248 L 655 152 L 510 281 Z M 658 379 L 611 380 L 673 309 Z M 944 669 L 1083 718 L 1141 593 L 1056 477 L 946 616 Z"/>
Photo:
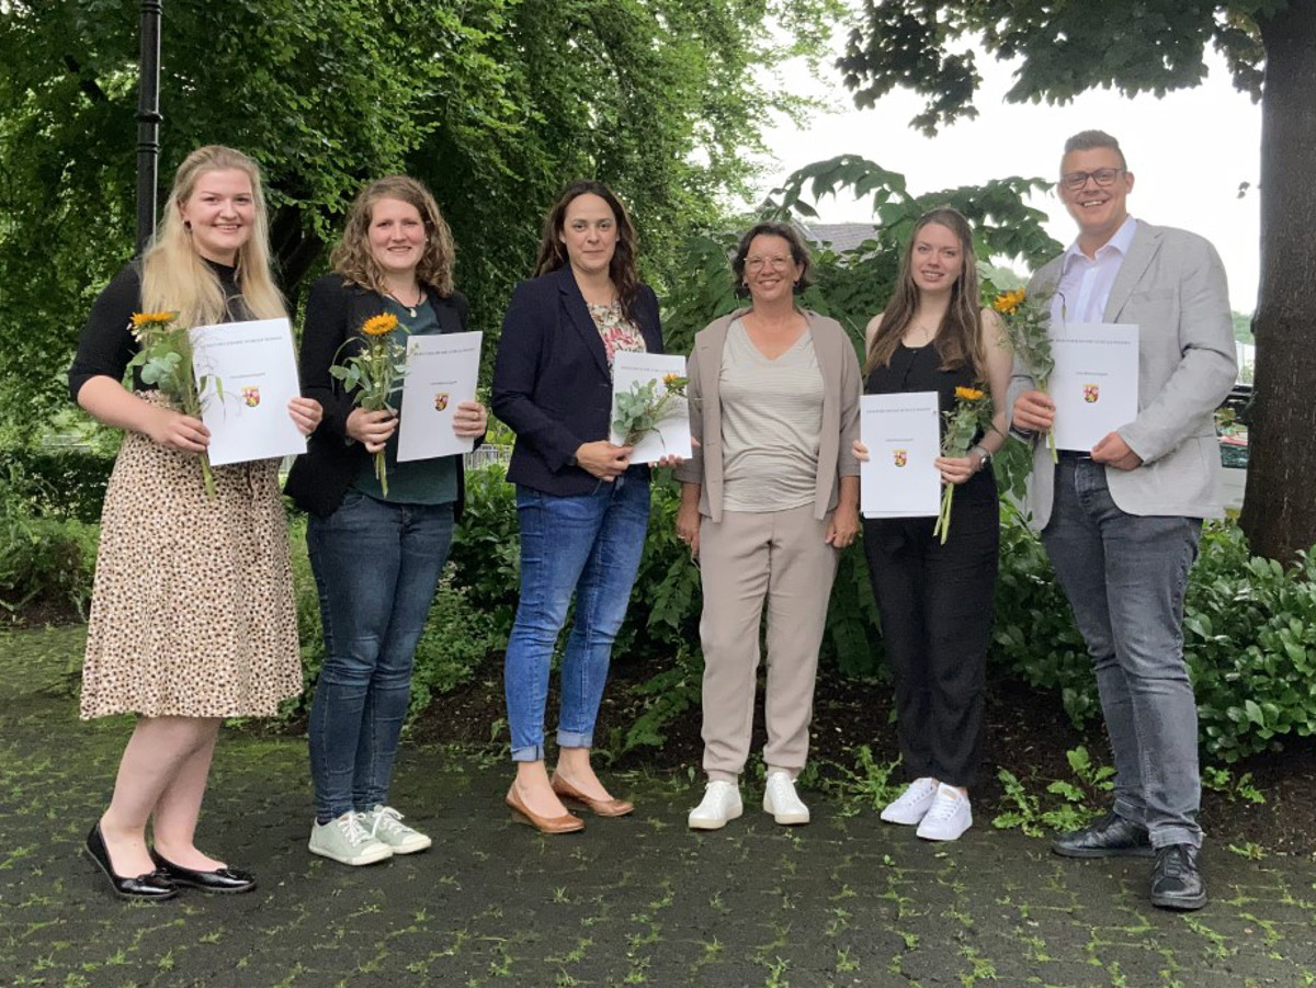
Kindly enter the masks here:
<path id="1" fill-rule="evenodd" d="M 732 262 L 749 305 L 709 324 L 690 355 L 692 459 L 676 531 L 699 559 L 708 784 L 688 824 L 742 812 L 767 606 L 767 783 L 778 824 L 809 822 L 795 791 L 809 747 L 819 645 L 840 550 L 859 531 L 859 362 L 836 320 L 796 304 L 809 254 L 787 224 L 741 237 Z"/>

